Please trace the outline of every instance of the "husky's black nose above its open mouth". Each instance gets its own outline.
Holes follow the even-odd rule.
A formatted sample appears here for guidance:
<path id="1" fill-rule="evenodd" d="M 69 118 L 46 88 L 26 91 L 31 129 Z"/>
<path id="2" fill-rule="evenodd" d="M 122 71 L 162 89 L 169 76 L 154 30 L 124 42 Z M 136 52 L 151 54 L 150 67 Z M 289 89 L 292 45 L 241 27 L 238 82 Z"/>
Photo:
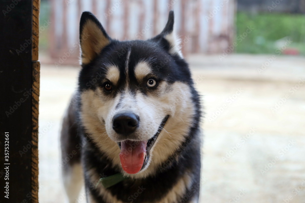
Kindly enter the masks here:
<path id="1" fill-rule="evenodd" d="M 119 134 L 131 134 L 138 126 L 139 119 L 134 113 L 119 113 L 113 117 L 113 130 Z"/>

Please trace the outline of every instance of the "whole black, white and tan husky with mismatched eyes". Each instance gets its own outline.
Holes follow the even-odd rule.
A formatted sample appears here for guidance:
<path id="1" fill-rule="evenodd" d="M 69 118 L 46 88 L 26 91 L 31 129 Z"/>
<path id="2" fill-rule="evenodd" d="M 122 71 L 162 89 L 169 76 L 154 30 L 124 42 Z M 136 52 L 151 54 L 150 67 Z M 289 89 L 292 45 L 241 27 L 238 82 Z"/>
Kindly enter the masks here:
<path id="1" fill-rule="evenodd" d="M 199 95 L 173 31 L 118 41 L 90 12 L 80 21 L 82 69 L 63 120 L 70 202 L 199 201 Z"/>

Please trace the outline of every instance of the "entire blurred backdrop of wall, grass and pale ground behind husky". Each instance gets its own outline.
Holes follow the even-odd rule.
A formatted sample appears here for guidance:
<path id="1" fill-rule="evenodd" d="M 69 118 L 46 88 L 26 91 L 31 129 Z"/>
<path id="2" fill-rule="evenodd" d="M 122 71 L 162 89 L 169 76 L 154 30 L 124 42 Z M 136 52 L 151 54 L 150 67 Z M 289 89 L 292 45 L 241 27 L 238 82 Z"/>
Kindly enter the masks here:
<path id="1" fill-rule="evenodd" d="M 305 0 L 41 0 L 40 202 L 65 199 L 59 131 L 81 12 L 132 40 L 159 34 L 172 9 L 204 105 L 200 202 L 305 202 Z"/>

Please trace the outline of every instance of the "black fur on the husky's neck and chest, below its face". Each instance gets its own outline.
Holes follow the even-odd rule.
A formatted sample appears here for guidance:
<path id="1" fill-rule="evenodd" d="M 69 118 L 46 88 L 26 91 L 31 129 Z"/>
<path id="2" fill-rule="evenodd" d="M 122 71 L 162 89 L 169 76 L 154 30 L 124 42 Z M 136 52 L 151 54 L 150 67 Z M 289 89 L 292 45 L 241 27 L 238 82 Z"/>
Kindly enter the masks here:
<path id="1" fill-rule="evenodd" d="M 196 125 L 192 127 L 191 133 L 195 133 L 197 130 Z M 191 144 L 189 144 L 191 142 Z M 186 146 L 186 147 L 183 147 Z M 139 196 L 132 200 L 134 203 L 142 202 L 158 202 L 163 198 L 167 192 L 174 186 L 179 178 L 188 172 L 192 172 L 194 182 L 191 186 L 190 191 L 182 194 L 181 201 L 178 202 L 190 202 L 190 197 L 198 196 L 200 190 L 200 141 L 193 137 L 188 137 L 187 140 L 181 144 L 179 148 L 171 157 L 165 162 L 161 163 L 159 170 L 153 176 L 148 176 L 145 179 L 127 179 L 112 187 L 108 190 L 113 196 L 123 202 L 131 202 L 131 195 L 137 193 L 139 187 L 144 188 L 144 191 Z M 87 139 L 87 144 L 83 152 L 83 164 L 87 169 L 95 169 L 96 173 L 101 177 L 107 177 L 120 173 L 118 167 L 113 167 L 111 161 L 101 152 L 98 147 Z M 178 161 L 176 160 L 178 158 Z M 98 191 L 96 191 L 95 184 L 89 182 L 89 176 L 85 178 L 87 190 L 91 194 L 95 194 L 94 197 L 97 202 L 102 201 L 102 197 L 99 197 Z M 188 194 L 189 193 L 189 194 Z M 188 197 L 187 199 L 184 199 Z M 183 200 L 183 201 L 182 201 Z"/>

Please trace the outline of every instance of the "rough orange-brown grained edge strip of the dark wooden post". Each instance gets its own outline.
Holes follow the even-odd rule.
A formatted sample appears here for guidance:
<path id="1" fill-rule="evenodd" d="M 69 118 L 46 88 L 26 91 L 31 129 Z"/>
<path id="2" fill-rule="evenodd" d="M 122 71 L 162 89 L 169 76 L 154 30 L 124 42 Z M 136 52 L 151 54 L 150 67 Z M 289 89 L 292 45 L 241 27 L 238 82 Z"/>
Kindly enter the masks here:
<path id="1" fill-rule="evenodd" d="M 38 107 L 39 107 L 39 82 L 40 62 L 38 61 L 39 44 L 39 11 L 40 0 L 33 0 L 33 40 L 32 40 L 32 161 L 31 185 L 32 203 L 38 203 Z"/>

